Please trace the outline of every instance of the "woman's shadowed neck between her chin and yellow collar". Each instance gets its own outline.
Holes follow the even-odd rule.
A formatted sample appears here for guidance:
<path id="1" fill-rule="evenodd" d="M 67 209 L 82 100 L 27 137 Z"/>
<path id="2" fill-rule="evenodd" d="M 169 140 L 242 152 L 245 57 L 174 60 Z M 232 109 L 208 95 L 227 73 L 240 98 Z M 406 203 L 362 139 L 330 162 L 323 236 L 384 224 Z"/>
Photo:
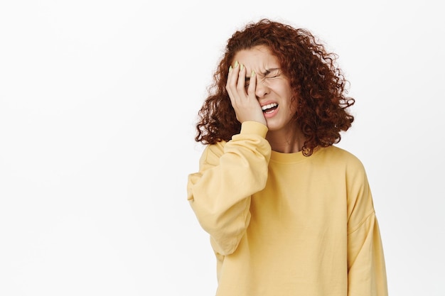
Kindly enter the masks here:
<path id="1" fill-rule="evenodd" d="M 300 130 L 298 131 L 269 131 L 266 136 L 272 150 L 280 153 L 296 153 L 303 149 L 304 137 Z"/>

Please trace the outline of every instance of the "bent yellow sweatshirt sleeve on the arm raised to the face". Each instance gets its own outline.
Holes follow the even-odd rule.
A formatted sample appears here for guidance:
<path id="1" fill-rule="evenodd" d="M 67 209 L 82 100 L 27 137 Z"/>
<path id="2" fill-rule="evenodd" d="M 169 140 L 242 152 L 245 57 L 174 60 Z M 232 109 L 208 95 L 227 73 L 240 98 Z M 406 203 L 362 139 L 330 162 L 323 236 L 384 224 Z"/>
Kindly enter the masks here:
<path id="1" fill-rule="evenodd" d="M 236 250 L 250 222 L 250 198 L 266 185 L 271 154 L 266 133 L 263 124 L 242 123 L 231 141 L 207 146 L 199 172 L 188 176 L 188 201 L 222 255 Z"/>

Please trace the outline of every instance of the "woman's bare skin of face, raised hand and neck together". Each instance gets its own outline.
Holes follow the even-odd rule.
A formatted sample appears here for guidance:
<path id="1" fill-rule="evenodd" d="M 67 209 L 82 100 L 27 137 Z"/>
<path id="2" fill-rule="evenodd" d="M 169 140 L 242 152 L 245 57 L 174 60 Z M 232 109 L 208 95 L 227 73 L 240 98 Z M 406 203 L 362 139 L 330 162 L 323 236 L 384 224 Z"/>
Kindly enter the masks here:
<path id="1" fill-rule="evenodd" d="M 297 102 L 291 102 L 291 86 L 277 57 L 264 45 L 240 50 L 234 57 L 226 84 L 237 120 L 267 126 L 267 141 L 281 153 L 301 151 L 306 140 L 292 121 Z M 263 112 L 262 106 L 278 104 Z"/>

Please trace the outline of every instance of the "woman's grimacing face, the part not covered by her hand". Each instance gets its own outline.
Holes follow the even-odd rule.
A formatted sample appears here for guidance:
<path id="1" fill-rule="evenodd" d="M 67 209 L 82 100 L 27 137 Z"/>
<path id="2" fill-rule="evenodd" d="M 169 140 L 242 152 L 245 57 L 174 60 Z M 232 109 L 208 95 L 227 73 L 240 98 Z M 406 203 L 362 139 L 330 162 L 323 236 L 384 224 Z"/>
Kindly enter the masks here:
<path id="1" fill-rule="evenodd" d="M 257 77 L 255 95 L 262 106 L 269 133 L 292 128 L 292 116 L 296 112 L 296 102 L 291 102 L 291 85 L 283 74 L 276 56 L 265 45 L 248 50 L 240 50 L 234 57 L 246 67 L 246 89 L 252 71 Z"/>

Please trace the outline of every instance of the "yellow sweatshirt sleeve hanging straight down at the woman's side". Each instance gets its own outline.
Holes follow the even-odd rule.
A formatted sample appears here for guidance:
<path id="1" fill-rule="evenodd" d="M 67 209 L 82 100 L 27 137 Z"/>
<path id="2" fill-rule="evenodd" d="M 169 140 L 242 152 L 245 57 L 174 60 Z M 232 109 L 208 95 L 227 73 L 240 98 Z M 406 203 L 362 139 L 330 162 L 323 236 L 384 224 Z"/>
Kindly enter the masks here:
<path id="1" fill-rule="evenodd" d="M 387 296 L 380 229 L 361 163 L 359 168 L 348 196 L 348 296 Z"/>

